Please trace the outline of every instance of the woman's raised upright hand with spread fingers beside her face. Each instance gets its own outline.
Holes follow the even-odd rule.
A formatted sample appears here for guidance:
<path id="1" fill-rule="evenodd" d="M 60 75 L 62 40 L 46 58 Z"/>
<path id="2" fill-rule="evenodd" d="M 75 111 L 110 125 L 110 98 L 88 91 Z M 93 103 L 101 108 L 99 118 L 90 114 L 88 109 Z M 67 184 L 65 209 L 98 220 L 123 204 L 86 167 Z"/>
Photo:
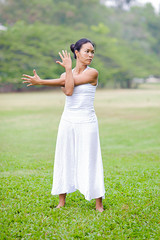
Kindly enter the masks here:
<path id="1" fill-rule="evenodd" d="M 72 69 L 72 59 L 70 53 L 67 53 L 67 50 L 62 50 L 62 54 L 59 52 L 59 56 L 62 59 L 62 62 L 56 61 L 56 63 L 60 64 L 66 70 Z"/>

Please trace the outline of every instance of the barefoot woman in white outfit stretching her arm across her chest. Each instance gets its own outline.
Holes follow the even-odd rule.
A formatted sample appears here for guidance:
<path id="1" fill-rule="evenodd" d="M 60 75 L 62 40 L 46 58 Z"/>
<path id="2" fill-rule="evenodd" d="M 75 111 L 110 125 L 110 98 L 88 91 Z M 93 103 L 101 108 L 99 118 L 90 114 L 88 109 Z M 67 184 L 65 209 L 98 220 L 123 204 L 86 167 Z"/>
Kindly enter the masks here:
<path id="1" fill-rule="evenodd" d="M 61 86 L 66 94 L 64 111 L 59 124 L 55 151 L 52 195 L 59 194 L 57 208 L 65 205 L 66 194 L 79 190 L 85 199 L 96 199 L 96 210 L 103 212 L 104 177 L 94 96 L 98 85 L 98 72 L 88 67 L 94 57 L 94 44 L 80 39 L 70 46 L 76 59 L 67 51 L 59 53 L 65 73 L 59 79 L 42 80 L 23 75 L 24 83 L 31 85 Z"/>

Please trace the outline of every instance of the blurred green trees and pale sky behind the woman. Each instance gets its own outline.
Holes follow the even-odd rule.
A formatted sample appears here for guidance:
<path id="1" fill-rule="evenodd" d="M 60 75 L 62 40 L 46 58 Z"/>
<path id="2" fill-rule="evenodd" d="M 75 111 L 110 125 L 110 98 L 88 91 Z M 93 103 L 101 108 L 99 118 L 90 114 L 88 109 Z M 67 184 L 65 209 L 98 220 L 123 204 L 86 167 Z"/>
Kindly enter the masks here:
<path id="1" fill-rule="evenodd" d="M 57 78 L 58 52 L 96 44 L 101 88 L 160 86 L 159 0 L 0 0 L 0 91 L 26 91 L 23 73 Z M 74 61 L 75 64 L 75 61 Z"/>

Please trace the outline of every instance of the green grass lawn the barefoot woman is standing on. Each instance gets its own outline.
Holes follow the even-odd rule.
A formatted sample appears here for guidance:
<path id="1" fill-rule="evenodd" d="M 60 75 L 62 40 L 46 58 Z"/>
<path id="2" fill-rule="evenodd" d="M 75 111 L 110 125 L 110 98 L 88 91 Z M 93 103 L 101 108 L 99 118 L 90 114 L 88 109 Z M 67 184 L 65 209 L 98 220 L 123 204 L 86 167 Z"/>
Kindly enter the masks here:
<path id="1" fill-rule="evenodd" d="M 60 92 L 0 95 L 0 239 L 160 239 L 160 90 L 98 90 L 103 213 L 76 191 L 51 196 Z"/>

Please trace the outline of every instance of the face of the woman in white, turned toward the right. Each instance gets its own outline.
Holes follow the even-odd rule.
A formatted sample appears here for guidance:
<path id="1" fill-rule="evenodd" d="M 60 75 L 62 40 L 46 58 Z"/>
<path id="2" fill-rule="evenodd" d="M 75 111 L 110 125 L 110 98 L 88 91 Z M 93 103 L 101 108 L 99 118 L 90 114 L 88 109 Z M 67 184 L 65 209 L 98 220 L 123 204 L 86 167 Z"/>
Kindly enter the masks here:
<path id="1" fill-rule="evenodd" d="M 88 42 L 82 45 L 80 51 L 75 51 L 77 60 L 81 61 L 85 65 L 90 65 L 94 57 L 94 47 Z"/>

